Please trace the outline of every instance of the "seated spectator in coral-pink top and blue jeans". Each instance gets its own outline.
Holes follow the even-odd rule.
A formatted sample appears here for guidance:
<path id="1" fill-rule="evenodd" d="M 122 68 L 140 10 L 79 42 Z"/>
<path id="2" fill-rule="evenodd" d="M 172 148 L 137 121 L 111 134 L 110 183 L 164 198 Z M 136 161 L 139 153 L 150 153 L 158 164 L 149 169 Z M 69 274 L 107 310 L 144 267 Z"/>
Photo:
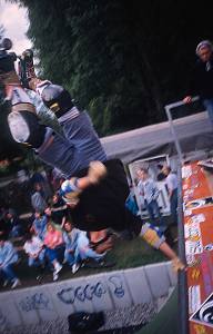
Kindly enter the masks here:
<path id="1" fill-rule="evenodd" d="M 64 254 L 64 242 L 62 232 L 57 229 L 52 223 L 48 223 L 47 233 L 43 244 L 45 245 L 45 254 L 50 263 L 53 265 L 53 281 L 59 278 L 59 272 L 62 265 L 59 263 L 61 254 Z"/>

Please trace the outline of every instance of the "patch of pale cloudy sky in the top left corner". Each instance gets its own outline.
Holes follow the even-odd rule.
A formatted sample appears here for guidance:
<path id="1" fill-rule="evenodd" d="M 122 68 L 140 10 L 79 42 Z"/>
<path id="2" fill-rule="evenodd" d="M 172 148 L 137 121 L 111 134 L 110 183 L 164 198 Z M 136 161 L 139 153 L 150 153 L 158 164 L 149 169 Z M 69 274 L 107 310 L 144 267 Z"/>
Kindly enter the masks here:
<path id="1" fill-rule="evenodd" d="M 20 55 L 31 48 L 31 42 L 26 36 L 29 26 L 26 9 L 0 0 L 0 24 L 6 29 L 4 37 L 9 37 L 13 42 L 12 51 Z"/>

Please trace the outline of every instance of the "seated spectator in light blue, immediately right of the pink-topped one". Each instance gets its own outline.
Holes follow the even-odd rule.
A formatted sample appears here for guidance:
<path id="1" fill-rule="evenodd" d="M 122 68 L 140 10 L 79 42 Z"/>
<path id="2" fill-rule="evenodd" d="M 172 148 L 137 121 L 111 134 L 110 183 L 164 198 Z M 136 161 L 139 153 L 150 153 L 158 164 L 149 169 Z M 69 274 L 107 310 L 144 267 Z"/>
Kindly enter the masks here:
<path id="1" fill-rule="evenodd" d="M 72 227 L 70 220 L 65 220 L 63 225 L 63 239 L 65 243 L 64 259 L 72 267 L 74 274 L 80 267 L 80 258 L 78 254 L 78 237 L 80 229 Z"/>

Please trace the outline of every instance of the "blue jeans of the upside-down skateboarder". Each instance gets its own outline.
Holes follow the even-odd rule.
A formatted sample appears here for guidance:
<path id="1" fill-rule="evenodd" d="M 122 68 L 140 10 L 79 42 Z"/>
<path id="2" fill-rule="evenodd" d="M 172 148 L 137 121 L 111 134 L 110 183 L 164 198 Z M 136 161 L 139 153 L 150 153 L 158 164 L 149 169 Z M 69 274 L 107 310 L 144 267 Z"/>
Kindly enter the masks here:
<path id="1" fill-rule="evenodd" d="M 37 150 L 40 159 L 60 169 L 65 177 L 77 175 L 78 171 L 93 160 L 104 161 L 106 155 L 95 134 L 87 112 L 62 124 L 67 138 L 54 134 L 52 141 L 45 145 L 51 131 L 42 146 Z"/>

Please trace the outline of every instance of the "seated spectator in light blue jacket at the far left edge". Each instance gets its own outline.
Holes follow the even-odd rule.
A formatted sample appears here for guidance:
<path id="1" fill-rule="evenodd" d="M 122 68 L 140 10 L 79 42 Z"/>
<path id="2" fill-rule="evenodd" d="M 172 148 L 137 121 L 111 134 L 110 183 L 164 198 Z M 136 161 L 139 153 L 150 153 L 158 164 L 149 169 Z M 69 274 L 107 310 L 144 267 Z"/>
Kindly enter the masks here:
<path id="1" fill-rule="evenodd" d="M 12 243 L 6 240 L 3 236 L 0 236 L 0 274 L 2 274 L 4 278 L 3 286 L 11 283 L 11 288 L 14 288 L 21 284 L 12 268 L 17 262 L 18 254 Z"/>

